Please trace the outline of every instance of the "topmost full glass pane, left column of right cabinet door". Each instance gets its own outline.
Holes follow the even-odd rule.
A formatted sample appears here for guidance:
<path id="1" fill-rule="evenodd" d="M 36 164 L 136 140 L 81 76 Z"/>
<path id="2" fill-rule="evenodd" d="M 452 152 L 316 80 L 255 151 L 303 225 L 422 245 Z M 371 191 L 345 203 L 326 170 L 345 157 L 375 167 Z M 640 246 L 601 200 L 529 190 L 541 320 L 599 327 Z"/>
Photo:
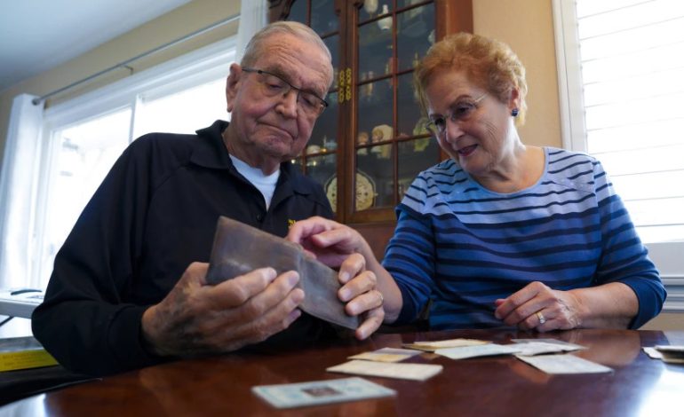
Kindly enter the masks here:
<path id="1" fill-rule="evenodd" d="M 392 21 L 391 17 L 387 19 Z M 385 75 L 392 70 L 392 27 L 378 27 L 378 21 L 371 21 L 359 28 L 358 78 L 368 80 Z"/>

